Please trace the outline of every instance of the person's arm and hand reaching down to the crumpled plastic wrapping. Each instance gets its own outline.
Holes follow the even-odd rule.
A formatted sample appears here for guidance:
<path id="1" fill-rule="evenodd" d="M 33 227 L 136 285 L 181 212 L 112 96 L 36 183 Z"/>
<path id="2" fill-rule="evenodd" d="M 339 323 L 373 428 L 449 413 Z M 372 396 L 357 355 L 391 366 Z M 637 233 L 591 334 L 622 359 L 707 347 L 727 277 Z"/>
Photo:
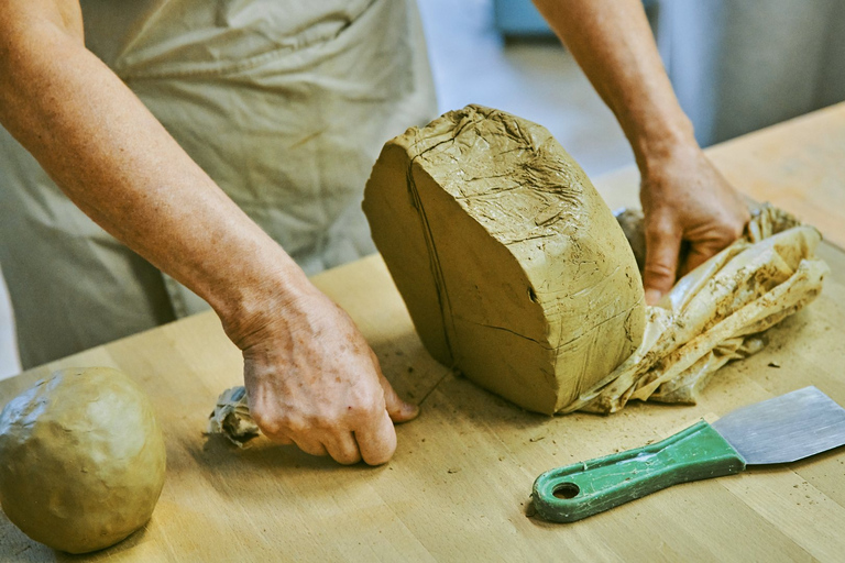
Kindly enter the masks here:
<path id="1" fill-rule="evenodd" d="M 534 0 L 613 110 L 643 174 L 646 300 L 743 232 L 748 211 L 704 157 L 666 75 L 640 0 Z"/>

